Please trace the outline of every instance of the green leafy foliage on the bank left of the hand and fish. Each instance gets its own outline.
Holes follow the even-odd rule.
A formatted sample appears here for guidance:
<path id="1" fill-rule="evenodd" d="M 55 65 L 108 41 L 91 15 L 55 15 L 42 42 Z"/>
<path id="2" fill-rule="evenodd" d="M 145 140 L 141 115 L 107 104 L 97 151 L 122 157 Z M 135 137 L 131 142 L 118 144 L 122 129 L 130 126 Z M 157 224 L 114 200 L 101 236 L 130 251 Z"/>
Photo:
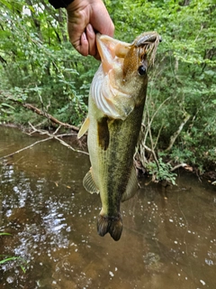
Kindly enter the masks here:
<path id="1" fill-rule="evenodd" d="M 59 120 L 78 125 L 87 103 L 81 75 L 92 61 L 72 50 L 65 12 L 57 13 L 45 1 L 18 0 L 15 7 L 1 2 L 2 89 L 16 100 L 43 107 L 49 114 L 58 112 Z M 88 71 L 85 81 L 90 82 L 91 76 Z M 67 115 L 62 107 L 67 107 Z"/>

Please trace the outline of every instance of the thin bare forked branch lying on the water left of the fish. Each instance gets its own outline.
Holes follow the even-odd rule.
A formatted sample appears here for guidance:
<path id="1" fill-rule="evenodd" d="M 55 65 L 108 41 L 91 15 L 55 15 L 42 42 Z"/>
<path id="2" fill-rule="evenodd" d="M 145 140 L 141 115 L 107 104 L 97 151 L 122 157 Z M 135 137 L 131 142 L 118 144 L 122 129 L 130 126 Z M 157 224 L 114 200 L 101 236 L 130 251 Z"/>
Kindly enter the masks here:
<path id="1" fill-rule="evenodd" d="M 14 154 L 22 153 L 23 151 L 30 149 L 32 146 L 34 146 L 34 145 L 36 145 L 36 144 L 40 144 L 40 143 L 46 142 L 46 141 L 49 141 L 50 139 L 56 139 L 56 140 L 58 140 L 58 142 L 60 142 L 61 144 L 67 146 L 67 148 L 69 148 L 69 149 L 72 150 L 73 152 L 80 153 L 80 154 L 87 154 L 87 155 L 88 155 L 88 153 L 86 153 L 85 151 L 77 150 L 77 149 L 75 149 L 73 146 L 67 144 L 66 142 L 64 142 L 64 141 L 61 139 L 61 137 L 63 137 L 63 136 L 71 136 L 71 135 L 75 135 L 75 134 L 61 134 L 61 135 L 56 135 L 57 132 L 58 132 L 58 130 L 59 130 L 59 128 L 60 128 L 60 126 L 58 126 L 57 130 L 56 130 L 53 134 L 50 134 L 48 131 L 40 130 L 40 129 L 35 128 L 34 126 L 31 125 L 31 123 L 29 123 L 29 125 L 31 126 L 32 131 L 31 131 L 31 133 L 29 133 L 29 134 L 27 134 L 27 135 L 32 135 L 32 134 L 38 133 L 38 134 L 40 134 L 40 135 L 48 135 L 49 137 L 47 137 L 47 138 L 45 138 L 45 139 L 41 139 L 40 141 L 37 141 L 37 142 L 35 142 L 35 143 L 33 143 L 33 144 L 30 144 L 30 145 L 28 145 L 28 146 L 25 146 L 25 147 L 23 147 L 22 149 L 14 152 L 14 153 L 12 153 L 12 154 L 4 155 L 4 156 L 0 157 L 0 160 L 4 160 L 4 159 L 6 159 L 6 158 L 8 158 L 8 157 L 10 157 L 10 156 L 13 156 Z"/>

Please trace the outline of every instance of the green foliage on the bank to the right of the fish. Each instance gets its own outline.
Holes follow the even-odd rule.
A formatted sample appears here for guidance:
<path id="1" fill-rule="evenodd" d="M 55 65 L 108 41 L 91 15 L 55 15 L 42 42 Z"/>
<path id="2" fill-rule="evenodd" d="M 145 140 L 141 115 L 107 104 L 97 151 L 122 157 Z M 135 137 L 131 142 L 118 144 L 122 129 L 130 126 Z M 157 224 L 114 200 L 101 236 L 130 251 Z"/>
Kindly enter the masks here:
<path id="1" fill-rule="evenodd" d="M 211 0 L 124 1 L 119 14 L 118 1 L 106 3 L 119 38 L 130 41 L 130 36 L 152 30 L 163 38 L 148 81 L 141 162 L 148 166 L 152 160 L 147 146 L 157 158 L 163 152 L 164 159 L 189 163 L 200 172 L 214 169 L 216 5 Z"/>

